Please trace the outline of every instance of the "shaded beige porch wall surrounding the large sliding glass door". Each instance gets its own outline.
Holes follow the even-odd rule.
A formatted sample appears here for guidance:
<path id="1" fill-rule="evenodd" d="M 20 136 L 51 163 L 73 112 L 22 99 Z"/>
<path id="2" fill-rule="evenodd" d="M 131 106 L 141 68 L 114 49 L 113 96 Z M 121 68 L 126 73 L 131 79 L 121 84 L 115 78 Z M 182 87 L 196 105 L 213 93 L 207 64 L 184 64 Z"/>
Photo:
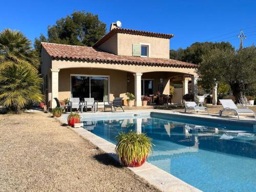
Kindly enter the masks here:
<path id="1" fill-rule="evenodd" d="M 100 69 L 62 69 L 59 71 L 59 94 L 60 100 L 70 98 L 70 74 L 82 75 L 109 75 L 110 76 L 110 100 L 114 97 L 125 97 L 127 90 L 126 72 Z"/>

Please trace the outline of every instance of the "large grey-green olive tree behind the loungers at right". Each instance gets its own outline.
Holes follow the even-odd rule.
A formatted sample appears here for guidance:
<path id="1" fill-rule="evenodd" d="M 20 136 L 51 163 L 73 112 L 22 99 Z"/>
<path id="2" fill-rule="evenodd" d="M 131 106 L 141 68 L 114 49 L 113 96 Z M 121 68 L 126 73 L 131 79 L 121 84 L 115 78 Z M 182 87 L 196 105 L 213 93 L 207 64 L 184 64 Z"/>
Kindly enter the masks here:
<path id="1" fill-rule="evenodd" d="M 227 83 L 236 102 L 247 104 L 245 93 L 256 82 L 256 48 L 254 46 L 237 51 L 214 49 L 203 56 L 198 66 L 201 83 L 212 87 L 216 82 Z"/>

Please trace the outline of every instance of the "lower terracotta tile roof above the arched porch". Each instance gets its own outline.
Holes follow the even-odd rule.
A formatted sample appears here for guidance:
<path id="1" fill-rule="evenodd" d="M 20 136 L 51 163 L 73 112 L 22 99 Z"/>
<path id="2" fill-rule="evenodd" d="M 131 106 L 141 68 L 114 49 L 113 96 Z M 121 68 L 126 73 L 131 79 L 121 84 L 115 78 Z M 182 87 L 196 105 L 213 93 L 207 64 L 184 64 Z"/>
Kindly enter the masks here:
<path id="1" fill-rule="evenodd" d="M 192 63 L 174 59 L 135 57 L 115 55 L 92 47 L 71 46 L 41 42 L 42 47 L 52 59 L 83 60 L 101 63 L 116 63 L 122 65 L 161 66 L 178 68 L 196 68 Z"/>

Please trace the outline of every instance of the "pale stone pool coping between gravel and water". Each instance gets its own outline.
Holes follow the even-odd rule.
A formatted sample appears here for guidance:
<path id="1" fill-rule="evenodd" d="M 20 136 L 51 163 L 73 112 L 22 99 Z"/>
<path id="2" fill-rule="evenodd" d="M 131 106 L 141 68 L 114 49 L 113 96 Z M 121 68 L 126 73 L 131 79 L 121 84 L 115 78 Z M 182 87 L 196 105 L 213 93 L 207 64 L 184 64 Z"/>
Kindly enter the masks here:
<path id="1" fill-rule="evenodd" d="M 64 119 L 56 118 L 61 123 L 67 123 Z M 111 156 L 113 159 L 119 162 L 117 155 L 115 154 L 115 147 L 116 145 L 106 141 L 105 139 L 91 133 L 90 131 L 80 128 L 72 128 L 74 132 L 76 132 L 81 137 L 89 140 L 91 143 L 96 145 L 100 150 Z M 156 186 L 162 191 L 201 191 L 200 189 L 182 181 L 181 179 L 173 176 L 165 172 L 164 170 L 158 168 L 157 166 L 145 162 L 140 167 L 127 167 L 134 174 L 143 178 L 148 183 Z"/>

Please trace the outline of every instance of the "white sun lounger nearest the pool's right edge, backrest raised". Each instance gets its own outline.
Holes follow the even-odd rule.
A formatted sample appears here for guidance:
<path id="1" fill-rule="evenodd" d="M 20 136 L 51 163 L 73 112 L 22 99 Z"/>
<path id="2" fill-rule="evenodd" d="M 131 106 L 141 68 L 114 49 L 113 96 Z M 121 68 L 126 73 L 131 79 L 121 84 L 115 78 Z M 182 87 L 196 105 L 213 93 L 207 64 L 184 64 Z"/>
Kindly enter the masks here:
<path id="1" fill-rule="evenodd" d="M 234 104 L 234 102 L 231 100 L 231 99 L 220 99 L 220 102 L 223 106 L 223 110 L 220 110 L 219 111 L 219 115 L 221 116 L 223 112 L 233 112 L 235 116 L 238 116 L 238 119 L 239 118 L 239 115 L 253 115 L 254 118 L 256 119 L 256 116 L 255 116 L 255 113 L 248 109 L 248 108 L 241 108 L 241 109 L 238 109 L 238 106 L 236 104 Z"/>

